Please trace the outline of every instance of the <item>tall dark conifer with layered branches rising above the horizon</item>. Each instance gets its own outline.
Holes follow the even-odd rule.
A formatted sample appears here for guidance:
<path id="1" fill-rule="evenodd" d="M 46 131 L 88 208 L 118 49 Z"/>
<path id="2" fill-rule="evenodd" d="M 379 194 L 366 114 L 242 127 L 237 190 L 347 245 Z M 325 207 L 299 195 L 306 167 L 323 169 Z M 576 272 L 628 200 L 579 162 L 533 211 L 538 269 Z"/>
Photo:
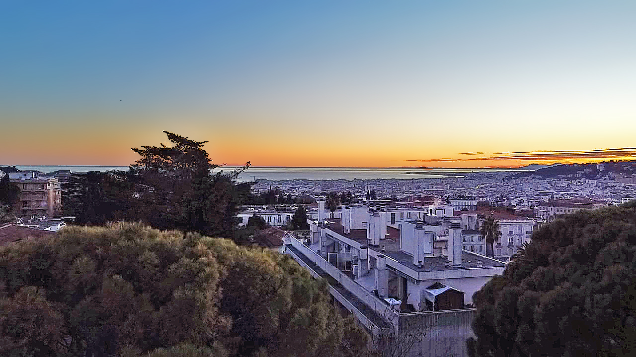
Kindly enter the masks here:
<path id="1" fill-rule="evenodd" d="M 232 236 L 240 192 L 232 181 L 249 168 L 212 174 L 204 142 L 164 131 L 172 146 L 132 149 L 141 156 L 130 171 L 139 178 L 135 189 L 141 220 L 153 227 Z"/>

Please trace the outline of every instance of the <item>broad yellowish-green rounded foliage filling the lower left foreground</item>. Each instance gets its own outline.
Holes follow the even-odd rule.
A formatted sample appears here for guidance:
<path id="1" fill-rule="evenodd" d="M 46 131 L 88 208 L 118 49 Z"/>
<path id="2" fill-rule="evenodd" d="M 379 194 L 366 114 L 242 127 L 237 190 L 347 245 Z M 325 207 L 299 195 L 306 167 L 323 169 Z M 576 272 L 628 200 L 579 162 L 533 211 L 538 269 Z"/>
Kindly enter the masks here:
<path id="1" fill-rule="evenodd" d="M 338 356 L 366 333 L 286 256 L 141 224 L 0 248 L 0 354 Z"/>

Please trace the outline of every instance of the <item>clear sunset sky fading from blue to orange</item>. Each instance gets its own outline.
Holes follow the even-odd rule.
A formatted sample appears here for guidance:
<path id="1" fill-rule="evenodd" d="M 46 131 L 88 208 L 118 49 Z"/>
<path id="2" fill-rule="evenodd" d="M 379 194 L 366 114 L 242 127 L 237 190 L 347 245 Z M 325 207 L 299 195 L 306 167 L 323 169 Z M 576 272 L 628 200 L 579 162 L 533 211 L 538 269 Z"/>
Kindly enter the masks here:
<path id="1" fill-rule="evenodd" d="M 636 1 L 0 1 L 0 164 L 636 159 Z"/>

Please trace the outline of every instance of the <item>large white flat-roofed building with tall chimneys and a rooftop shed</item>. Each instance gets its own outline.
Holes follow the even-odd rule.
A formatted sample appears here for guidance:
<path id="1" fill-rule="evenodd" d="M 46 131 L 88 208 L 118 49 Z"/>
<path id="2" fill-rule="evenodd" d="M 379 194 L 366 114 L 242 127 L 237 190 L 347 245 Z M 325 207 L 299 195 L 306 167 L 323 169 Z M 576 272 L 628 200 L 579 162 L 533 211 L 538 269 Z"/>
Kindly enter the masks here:
<path id="1" fill-rule="evenodd" d="M 340 219 L 322 207 L 310 231 L 287 232 L 284 252 L 331 280 L 333 297 L 373 334 L 430 325 L 411 356 L 466 354 L 473 293 L 506 263 L 462 249 L 466 230 L 452 207 L 342 206 Z"/>

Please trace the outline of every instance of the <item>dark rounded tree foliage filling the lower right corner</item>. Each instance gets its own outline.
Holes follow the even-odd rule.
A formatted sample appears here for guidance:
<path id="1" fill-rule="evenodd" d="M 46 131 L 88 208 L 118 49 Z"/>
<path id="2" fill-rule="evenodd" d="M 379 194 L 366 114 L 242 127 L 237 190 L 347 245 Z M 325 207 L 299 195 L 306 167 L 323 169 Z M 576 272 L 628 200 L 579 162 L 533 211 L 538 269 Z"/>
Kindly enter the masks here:
<path id="1" fill-rule="evenodd" d="M 636 349 L 636 208 L 565 215 L 473 300 L 474 356 L 625 356 Z"/>

